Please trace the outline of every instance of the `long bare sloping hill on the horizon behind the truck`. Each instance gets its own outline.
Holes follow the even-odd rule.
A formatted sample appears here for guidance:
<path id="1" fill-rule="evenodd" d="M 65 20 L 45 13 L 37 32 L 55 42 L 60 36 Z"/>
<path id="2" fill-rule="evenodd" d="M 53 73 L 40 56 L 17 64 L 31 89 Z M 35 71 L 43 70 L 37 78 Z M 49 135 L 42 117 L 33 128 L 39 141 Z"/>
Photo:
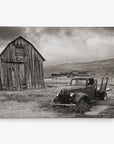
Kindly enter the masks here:
<path id="1" fill-rule="evenodd" d="M 52 73 L 70 71 L 90 71 L 99 74 L 107 73 L 114 75 L 114 59 L 45 66 L 45 77 L 49 77 Z"/>

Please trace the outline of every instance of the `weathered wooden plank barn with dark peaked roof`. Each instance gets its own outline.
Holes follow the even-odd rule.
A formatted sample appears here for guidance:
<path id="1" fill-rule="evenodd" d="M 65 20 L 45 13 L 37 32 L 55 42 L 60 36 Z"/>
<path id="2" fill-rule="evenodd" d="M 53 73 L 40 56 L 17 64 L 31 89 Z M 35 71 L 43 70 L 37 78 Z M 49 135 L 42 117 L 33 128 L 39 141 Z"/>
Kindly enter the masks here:
<path id="1" fill-rule="evenodd" d="M 16 38 L 0 54 L 0 89 L 44 88 L 43 61 L 32 43 Z"/>

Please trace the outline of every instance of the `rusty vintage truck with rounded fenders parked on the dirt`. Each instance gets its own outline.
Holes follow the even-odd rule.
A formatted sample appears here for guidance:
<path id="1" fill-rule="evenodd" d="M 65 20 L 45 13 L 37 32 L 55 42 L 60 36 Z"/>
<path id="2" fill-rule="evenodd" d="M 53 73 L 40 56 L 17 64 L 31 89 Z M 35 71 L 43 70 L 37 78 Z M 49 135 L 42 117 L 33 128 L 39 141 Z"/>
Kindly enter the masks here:
<path id="1" fill-rule="evenodd" d="M 88 111 L 95 101 L 107 100 L 107 83 L 108 77 L 103 77 L 98 89 L 97 80 L 92 77 L 73 78 L 68 87 L 59 91 L 53 106 L 74 106 L 80 112 Z"/>

